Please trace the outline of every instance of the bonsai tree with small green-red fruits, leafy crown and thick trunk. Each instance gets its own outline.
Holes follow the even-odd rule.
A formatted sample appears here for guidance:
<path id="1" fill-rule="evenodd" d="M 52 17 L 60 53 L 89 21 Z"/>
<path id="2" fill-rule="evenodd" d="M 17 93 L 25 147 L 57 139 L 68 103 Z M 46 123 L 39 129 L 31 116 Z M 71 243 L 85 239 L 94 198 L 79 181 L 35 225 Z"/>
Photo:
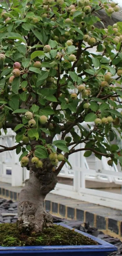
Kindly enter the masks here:
<path id="1" fill-rule="evenodd" d="M 110 166 L 122 164 L 122 151 L 112 144 L 122 130 L 122 23 L 105 28 L 100 9 L 111 18 L 119 6 L 106 0 L 1 2 L 0 128 L 5 134 L 11 128 L 17 143 L 0 152 L 16 149 L 30 170 L 18 202 L 23 232 L 52 226 L 43 201 L 70 165 L 69 155 L 84 150 L 85 157 L 93 152 Z M 85 129 L 84 121 L 94 129 Z M 76 149 L 82 142 L 85 147 Z"/>

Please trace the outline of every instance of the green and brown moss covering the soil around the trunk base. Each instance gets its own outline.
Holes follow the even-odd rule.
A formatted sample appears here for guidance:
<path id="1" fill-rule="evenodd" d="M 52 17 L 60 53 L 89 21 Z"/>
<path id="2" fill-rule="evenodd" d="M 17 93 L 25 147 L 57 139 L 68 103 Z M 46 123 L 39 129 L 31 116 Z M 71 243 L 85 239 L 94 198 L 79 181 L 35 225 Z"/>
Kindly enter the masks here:
<path id="1" fill-rule="evenodd" d="M 45 228 L 42 233 L 31 233 L 31 236 L 19 233 L 16 224 L 0 224 L 1 246 L 41 246 L 41 245 L 96 245 L 90 238 L 64 228 L 53 225 Z"/>

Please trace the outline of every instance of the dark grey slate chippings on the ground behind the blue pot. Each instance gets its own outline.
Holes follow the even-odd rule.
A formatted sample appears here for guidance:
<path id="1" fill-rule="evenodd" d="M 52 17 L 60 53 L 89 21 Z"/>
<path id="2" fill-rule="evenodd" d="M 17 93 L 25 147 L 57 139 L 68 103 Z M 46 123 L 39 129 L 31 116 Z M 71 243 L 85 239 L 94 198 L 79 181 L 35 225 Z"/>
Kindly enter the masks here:
<path id="1" fill-rule="evenodd" d="M 17 217 L 17 202 L 12 200 L 6 200 L 0 198 L 0 223 L 15 223 L 18 219 Z M 113 252 L 110 255 L 121 255 L 122 254 L 122 242 L 118 238 L 114 238 L 108 235 L 104 235 L 103 232 L 99 231 L 97 228 L 91 227 L 90 223 L 83 223 L 81 221 L 61 219 L 53 216 L 54 222 L 63 222 L 68 226 L 81 230 L 83 232 L 89 233 L 93 236 L 96 236 L 108 243 L 114 244 L 117 246 L 118 251 Z M 84 224 L 84 226 L 82 226 Z"/>

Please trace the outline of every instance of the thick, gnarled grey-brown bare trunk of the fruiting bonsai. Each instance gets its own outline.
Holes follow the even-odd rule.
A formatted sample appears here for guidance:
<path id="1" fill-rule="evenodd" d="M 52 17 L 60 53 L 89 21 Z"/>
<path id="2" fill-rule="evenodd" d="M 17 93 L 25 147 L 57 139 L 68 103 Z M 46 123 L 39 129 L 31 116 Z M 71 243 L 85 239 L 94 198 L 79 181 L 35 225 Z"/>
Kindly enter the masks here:
<path id="1" fill-rule="evenodd" d="M 25 187 L 19 194 L 17 226 L 21 232 L 30 234 L 52 226 L 53 218 L 46 213 L 43 202 L 57 180 L 52 169 L 47 170 L 45 166 L 37 169 L 30 161 L 29 165 L 30 178 L 25 181 Z"/>

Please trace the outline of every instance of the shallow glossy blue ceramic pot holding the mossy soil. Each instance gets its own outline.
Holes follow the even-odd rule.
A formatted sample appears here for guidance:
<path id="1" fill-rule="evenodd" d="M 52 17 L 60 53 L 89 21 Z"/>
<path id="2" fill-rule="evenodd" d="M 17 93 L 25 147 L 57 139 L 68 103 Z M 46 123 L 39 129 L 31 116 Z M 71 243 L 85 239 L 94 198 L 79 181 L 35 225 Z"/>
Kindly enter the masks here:
<path id="1" fill-rule="evenodd" d="M 58 223 L 65 228 L 71 227 Z M 117 251 L 117 247 L 94 236 L 75 230 L 84 236 L 95 240 L 98 245 L 68 245 L 68 246 L 23 246 L 23 247 L 0 247 L 0 255 L 13 256 L 107 256 L 110 252 Z"/>

